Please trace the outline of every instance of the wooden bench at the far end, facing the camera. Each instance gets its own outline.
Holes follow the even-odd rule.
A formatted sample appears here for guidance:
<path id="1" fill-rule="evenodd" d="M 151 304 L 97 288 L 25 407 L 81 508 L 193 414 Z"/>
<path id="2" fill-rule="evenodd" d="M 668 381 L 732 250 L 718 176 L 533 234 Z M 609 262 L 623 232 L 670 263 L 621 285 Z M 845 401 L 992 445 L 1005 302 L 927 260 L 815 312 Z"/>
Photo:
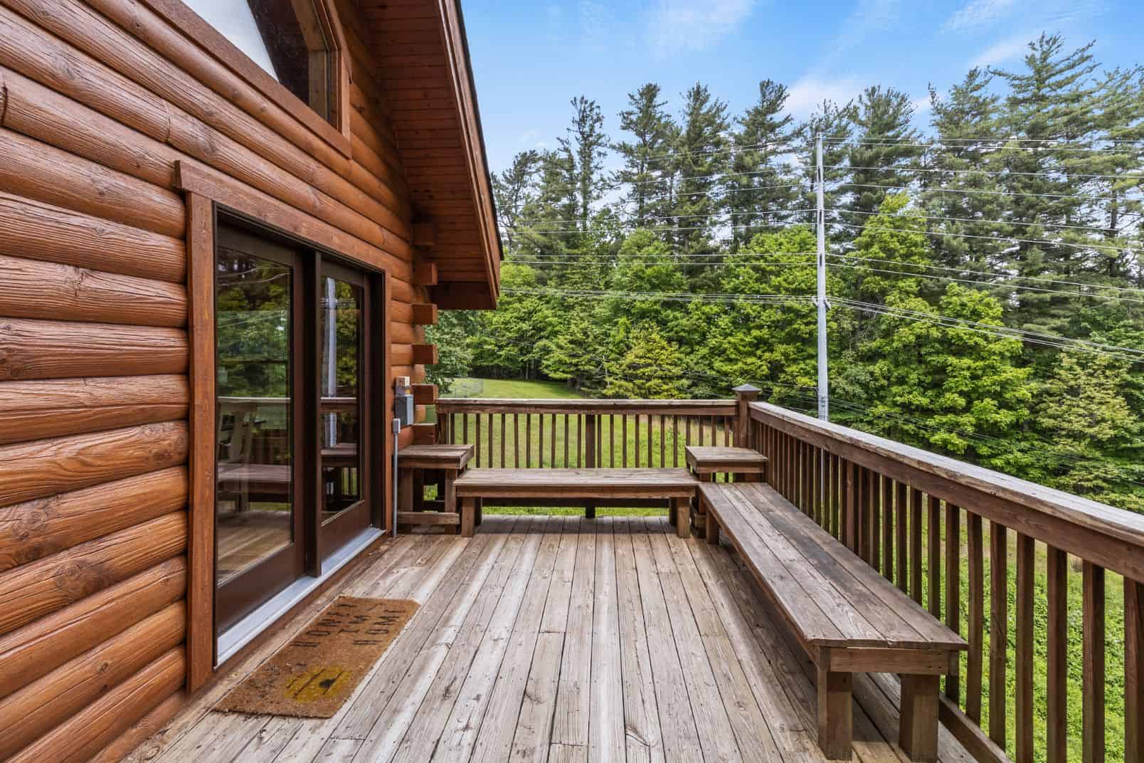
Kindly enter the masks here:
<path id="1" fill-rule="evenodd" d="M 698 484 L 686 469 L 469 469 L 454 486 L 461 501 L 461 534 L 467 537 L 472 535 L 485 500 L 622 506 L 657 499 L 667 501 L 668 520 L 680 538 L 688 538 L 686 507 Z"/>

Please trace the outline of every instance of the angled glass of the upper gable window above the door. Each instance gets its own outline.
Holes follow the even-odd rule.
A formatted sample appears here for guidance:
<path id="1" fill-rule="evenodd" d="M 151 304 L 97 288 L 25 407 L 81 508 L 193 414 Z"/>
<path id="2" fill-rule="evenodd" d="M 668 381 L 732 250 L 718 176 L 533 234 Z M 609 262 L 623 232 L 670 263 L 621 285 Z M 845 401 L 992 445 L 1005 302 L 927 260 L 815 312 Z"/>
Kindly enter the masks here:
<path id="1" fill-rule="evenodd" d="M 313 0 L 184 2 L 318 116 L 337 127 L 335 48 L 319 5 Z"/>

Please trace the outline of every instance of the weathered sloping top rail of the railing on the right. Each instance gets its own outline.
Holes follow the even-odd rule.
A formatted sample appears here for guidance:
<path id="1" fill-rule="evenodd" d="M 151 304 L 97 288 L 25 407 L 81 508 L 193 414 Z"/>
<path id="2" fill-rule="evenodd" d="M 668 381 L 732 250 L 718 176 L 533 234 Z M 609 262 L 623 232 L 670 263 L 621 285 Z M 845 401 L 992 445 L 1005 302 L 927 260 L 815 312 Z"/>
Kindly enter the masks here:
<path id="1" fill-rule="evenodd" d="M 994 499 L 994 503 L 1003 502 L 1041 512 L 1048 517 L 1066 522 L 1070 525 L 1091 530 L 1101 535 L 1117 539 L 1127 545 L 1127 547 L 1119 549 L 1122 553 L 1139 554 L 1144 551 L 1144 516 L 1133 514 L 1131 511 L 1118 509 L 1106 503 L 1046 487 L 1044 485 L 1038 485 L 1036 483 L 1017 477 L 1010 477 L 1009 475 L 966 463 L 964 461 L 937 455 L 919 447 L 904 445 L 857 429 L 821 421 L 769 403 L 752 403 L 750 414 L 752 419 L 756 421 L 776 426 L 778 429 L 795 437 L 804 437 L 813 440 L 826 450 L 840 453 L 849 460 L 861 463 L 861 454 L 867 454 L 868 462 L 863 463 L 863 466 L 868 466 L 882 474 L 892 471 L 884 467 L 896 464 L 898 467 L 896 470 L 897 474 L 889 474 L 891 477 L 907 482 L 911 482 L 911 477 L 929 477 L 930 485 L 947 483 L 951 488 L 955 486 L 956 491 L 946 491 L 960 492 L 961 495 L 956 495 L 955 498 L 962 498 L 966 490 L 969 490 L 978 494 L 982 499 Z M 833 447 L 832 444 L 834 445 Z M 938 498 L 944 498 L 937 491 L 935 491 L 935 494 Z M 990 516 L 988 511 L 980 510 L 983 507 L 968 504 L 966 508 Z M 1008 524 L 1003 518 L 1001 523 Z M 1030 523 L 1030 526 L 1035 525 L 1035 520 Z M 1078 548 L 1078 543 L 1082 542 L 1080 539 L 1048 538 L 1044 537 L 1044 533 L 1034 532 L 1030 532 L 1028 534 L 1033 534 L 1040 540 L 1050 542 L 1064 550 L 1072 550 L 1078 556 L 1088 558 L 1083 549 L 1073 550 Z M 1105 566 L 1115 567 L 1119 565 Z"/>

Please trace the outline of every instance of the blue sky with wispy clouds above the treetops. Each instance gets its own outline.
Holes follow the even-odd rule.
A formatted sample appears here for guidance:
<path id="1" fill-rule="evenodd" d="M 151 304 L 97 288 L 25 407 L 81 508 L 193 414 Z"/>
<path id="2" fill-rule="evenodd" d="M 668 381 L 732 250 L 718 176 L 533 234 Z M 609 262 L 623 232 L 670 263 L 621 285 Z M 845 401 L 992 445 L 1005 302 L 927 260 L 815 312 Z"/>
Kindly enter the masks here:
<path id="1" fill-rule="evenodd" d="M 463 0 L 493 170 L 517 151 L 555 145 L 583 94 L 619 135 L 617 113 L 646 81 L 673 111 L 696 81 L 739 113 L 770 78 L 799 117 L 866 85 L 939 90 L 974 65 L 1015 66 L 1041 31 L 1096 40 L 1110 66 L 1144 63 L 1142 0 Z M 919 114 L 925 122 L 927 114 Z"/>

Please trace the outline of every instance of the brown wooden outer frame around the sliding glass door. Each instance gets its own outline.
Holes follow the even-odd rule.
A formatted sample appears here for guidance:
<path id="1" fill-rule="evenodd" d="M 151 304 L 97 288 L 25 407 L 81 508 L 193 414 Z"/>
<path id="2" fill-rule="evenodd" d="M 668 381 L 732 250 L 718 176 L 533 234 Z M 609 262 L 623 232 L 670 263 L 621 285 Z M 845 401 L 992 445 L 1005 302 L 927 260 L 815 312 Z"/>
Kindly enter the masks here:
<path id="1" fill-rule="evenodd" d="M 355 239 L 321 220 L 289 205 L 261 194 L 247 185 L 183 161 L 175 162 L 175 188 L 184 193 L 188 213 L 188 328 L 191 443 L 188 463 L 188 578 L 186 578 L 186 690 L 196 691 L 233 661 L 253 649 L 259 638 L 239 650 L 223 665 L 216 665 L 215 634 L 215 332 L 214 261 L 215 226 L 219 214 L 245 221 L 271 233 L 296 240 L 351 263 L 374 275 L 371 296 L 375 301 L 376 325 L 368 360 L 374 379 L 382 384 L 378 396 L 382 410 L 373 419 L 373 463 L 365 471 L 373 476 L 376 500 L 371 501 L 371 525 L 391 532 L 394 474 L 391 445 L 386 437 L 386 411 L 394 405 L 390 382 L 392 347 L 389 341 L 392 268 L 396 257 Z M 375 467 L 375 468 L 373 468 Z M 372 546 L 372 545 L 371 545 Z M 363 549 L 364 553 L 367 549 Z M 360 554 L 359 554 L 360 555 Z M 311 561 L 311 570 L 315 565 Z M 320 570 L 317 570 L 320 573 Z M 309 596 L 317 595 L 321 580 Z M 308 599 L 307 599 L 308 601 Z M 304 603 L 304 602 L 303 602 Z M 268 626 L 270 623 L 267 623 Z M 263 633 L 264 636 L 264 633 Z"/>

